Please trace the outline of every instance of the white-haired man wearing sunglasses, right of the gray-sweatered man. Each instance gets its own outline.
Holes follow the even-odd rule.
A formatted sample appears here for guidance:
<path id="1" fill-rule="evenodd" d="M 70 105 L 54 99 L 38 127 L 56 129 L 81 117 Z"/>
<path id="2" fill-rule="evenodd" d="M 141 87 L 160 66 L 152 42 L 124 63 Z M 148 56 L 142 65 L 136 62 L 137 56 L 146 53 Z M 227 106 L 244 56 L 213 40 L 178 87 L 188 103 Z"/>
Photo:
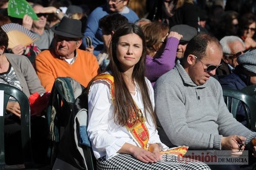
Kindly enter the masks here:
<path id="1" fill-rule="evenodd" d="M 218 76 L 229 75 L 238 65 L 237 58 L 245 52 L 245 44 L 237 36 L 225 36 L 220 40 L 223 56 L 222 65 L 216 71 Z"/>

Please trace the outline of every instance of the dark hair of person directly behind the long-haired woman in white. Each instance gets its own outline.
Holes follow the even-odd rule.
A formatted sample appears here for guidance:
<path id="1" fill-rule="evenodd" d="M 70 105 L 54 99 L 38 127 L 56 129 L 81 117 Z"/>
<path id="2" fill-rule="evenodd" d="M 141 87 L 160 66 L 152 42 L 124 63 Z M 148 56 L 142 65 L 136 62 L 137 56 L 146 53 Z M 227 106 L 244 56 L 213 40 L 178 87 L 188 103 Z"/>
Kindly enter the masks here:
<path id="1" fill-rule="evenodd" d="M 109 35 L 112 34 L 112 31 L 116 31 L 117 28 L 126 23 L 128 23 L 128 19 L 125 16 L 119 13 L 112 13 L 99 20 L 99 27 Z"/>

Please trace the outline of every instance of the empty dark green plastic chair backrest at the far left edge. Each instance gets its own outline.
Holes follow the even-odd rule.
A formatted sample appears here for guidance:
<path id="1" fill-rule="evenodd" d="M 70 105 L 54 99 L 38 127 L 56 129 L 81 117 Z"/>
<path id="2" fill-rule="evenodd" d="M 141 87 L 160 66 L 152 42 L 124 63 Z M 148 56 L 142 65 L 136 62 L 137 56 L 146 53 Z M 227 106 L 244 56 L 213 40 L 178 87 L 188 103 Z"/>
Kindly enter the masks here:
<path id="1" fill-rule="evenodd" d="M 14 97 L 20 105 L 21 113 L 21 138 L 22 138 L 22 150 L 23 150 L 23 159 L 24 165 L 26 168 L 34 167 L 34 162 L 32 158 L 32 149 L 31 149 L 31 138 L 30 138 L 30 105 L 27 96 L 15 88 L 14 86 L 0 84 L 0 90 L 4 90 L 4 113 L 8 100 L 11 97 Z M 5 158 L 4 158 L 4 116 L 0 116 L 0 169 L 5 167 Z"/>

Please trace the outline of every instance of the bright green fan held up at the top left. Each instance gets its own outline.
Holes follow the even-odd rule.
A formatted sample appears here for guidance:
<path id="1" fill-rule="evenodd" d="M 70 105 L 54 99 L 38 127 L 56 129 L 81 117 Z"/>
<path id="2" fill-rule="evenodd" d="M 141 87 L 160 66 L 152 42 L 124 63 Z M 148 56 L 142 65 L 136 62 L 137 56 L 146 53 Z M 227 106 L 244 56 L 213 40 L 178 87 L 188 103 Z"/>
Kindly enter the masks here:
<path id="1" fill-rule="evenodd" d="M 15 18 L 23 18 L 27 14 L 33 20 L 39 20 L 33 8 L 26 0 L 9 0 L 7 10 L 8 15 Z"/>

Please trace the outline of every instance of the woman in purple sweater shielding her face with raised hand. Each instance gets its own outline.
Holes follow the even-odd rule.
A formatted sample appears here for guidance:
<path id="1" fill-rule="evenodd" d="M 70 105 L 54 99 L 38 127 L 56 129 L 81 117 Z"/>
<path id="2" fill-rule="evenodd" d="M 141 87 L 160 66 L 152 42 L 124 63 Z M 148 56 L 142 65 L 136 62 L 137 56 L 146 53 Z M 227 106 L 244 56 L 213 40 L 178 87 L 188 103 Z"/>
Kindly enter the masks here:
<path id="1" fill-rule="evenodd" d="M 142 26 L 146 38 L 146 71 L 145 76 L 154 86 L 157 79 L 173 69 L 176 50 L 182 35 L 170 32 L 165 23 L 152 22 Z"/>

